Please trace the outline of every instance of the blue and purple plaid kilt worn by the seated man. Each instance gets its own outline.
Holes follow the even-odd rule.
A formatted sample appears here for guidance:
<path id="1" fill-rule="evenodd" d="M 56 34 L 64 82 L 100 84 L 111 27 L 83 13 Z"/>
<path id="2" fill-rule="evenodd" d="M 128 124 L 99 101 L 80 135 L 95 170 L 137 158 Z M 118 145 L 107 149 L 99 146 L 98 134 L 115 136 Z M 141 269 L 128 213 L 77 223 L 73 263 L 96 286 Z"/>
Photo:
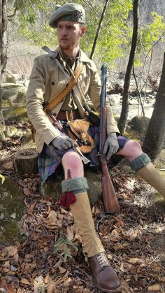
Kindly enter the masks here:
<path id="1" fill-rule="evenodd" d="M 92 138 L 94 139 L 94 148 L 91 152 L 85 154 L 85 157 L 89 159 L 90 166 L 99 166 L 99 127 L 96 127 L 94 125 L 89 126 L 88 133 Z M 118 136 L 117 137 L 118 143 L 120 145 L 120 149 L 124 147 L 124 144 L 129 141 L 129 138 L 125 138 L 124 136 Z M 52 174 L 55 173 L 55 170 L 57 169 L 57 166 L 62 161 L 62 157 L 66 152 L 75 151 L 73 148 L 70 148 L 69 150 L 58 150 L 57 148 L 54 148 L 53 146 L 44 145 L 43 151 L 41 154 L 38 155 L 38 169 L 40 173 L 40 177 L 43 183 L 45 183 L 45 180 Z M 120 159 L 116 158 L 120 157 L 122 159 L 122 156 L 112 156 L 112 159 L 110 159 L 110 166 L 115 166 Z"/>

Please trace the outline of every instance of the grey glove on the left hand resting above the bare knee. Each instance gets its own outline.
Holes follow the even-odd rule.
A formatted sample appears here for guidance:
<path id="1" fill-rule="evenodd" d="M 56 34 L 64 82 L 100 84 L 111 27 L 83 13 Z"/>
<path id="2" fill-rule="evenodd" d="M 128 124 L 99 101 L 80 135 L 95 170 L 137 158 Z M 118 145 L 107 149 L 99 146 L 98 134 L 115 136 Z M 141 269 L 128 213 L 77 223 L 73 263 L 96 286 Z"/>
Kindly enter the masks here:
<path id="1" fill-rule="evenodd" d="M 52 144 L 58 150 L 68 150 L 74 146 L 73 139 L 69 138 L 68 136 L 57 136 L 55 139 L 53 139 Z"/>

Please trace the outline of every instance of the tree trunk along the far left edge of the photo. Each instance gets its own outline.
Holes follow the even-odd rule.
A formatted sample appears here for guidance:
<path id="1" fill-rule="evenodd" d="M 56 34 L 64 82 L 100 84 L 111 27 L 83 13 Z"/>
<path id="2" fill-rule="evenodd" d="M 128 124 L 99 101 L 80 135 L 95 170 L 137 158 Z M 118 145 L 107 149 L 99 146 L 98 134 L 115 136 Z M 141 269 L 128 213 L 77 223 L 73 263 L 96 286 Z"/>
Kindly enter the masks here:
<path id="1" fill-rule="evenodd" d="M 8 17 L 7 17 L 7 0 L 0 1 L 0 89 L 3 82 L 3 76 L 7 64 L 7 29 L 8 29 Z M 2 92 L 0 90 L 0 124 L 3 124 L 3 112 L 2 112 Z"/>

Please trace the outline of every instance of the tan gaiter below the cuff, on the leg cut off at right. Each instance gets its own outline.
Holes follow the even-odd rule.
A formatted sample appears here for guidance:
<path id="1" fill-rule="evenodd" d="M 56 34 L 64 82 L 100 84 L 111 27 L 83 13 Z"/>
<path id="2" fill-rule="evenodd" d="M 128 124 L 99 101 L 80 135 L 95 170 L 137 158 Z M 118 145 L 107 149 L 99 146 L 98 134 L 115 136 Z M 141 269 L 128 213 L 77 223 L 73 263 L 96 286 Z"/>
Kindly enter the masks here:
<path id="1" fill-rule="evenodd" d="M 155 188 L 165 199 L 165 179 L 162 178 L 159 171 L 150 162 L 141 169 L 138 169 L 136 173 L 141 176 L 147 183 Z"/>

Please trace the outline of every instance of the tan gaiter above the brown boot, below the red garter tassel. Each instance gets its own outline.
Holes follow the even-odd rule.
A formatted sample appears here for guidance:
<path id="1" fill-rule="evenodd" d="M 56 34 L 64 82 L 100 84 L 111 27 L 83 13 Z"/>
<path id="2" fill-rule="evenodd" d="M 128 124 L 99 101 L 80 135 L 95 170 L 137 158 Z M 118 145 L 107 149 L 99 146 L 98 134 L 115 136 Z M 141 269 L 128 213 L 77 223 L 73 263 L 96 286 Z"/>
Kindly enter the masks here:
<path id="1" fill-rule="evenodd" d="M 92 257 L 105 251 L 99 236 L 96 235 L 87 192 L 76 194 L 76 201 L 71 204 L 70 208 L 76 224 L 78 224 L 87 256 Z"/>

